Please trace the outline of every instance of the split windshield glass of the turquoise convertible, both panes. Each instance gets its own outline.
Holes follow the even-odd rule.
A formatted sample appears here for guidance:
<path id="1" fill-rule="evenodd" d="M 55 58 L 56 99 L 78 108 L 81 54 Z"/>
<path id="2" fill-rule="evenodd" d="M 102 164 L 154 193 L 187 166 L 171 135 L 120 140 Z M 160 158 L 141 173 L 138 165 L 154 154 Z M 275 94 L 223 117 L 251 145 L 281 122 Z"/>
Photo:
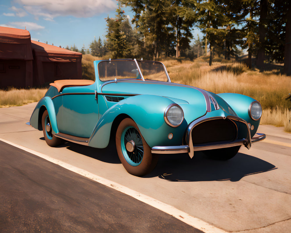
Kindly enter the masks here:
<path id="1" fill-rule="evenodd" d="M 168 81 L 164 66 L 156 61 L 113 60 L 98 63 L 98 73 L 101 81 L 118 79 L 142 79 Z M 139 68 L 141 74 L 139 72 Z"/>

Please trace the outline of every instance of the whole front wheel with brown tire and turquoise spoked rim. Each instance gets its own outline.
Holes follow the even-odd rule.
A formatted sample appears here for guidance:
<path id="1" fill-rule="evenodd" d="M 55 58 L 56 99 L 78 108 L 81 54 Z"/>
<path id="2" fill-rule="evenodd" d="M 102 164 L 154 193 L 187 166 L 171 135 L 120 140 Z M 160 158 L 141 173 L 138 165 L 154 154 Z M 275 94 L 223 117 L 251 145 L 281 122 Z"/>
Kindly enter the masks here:
<path id="1" fill-rule="evenodd" d="M 118 157 L 128 173 L 144 176 L 150 173 L 158 162 L 158 155 L 151 152 L 136 123 L 125 118 L 116 131 L 116 149 Z"/>

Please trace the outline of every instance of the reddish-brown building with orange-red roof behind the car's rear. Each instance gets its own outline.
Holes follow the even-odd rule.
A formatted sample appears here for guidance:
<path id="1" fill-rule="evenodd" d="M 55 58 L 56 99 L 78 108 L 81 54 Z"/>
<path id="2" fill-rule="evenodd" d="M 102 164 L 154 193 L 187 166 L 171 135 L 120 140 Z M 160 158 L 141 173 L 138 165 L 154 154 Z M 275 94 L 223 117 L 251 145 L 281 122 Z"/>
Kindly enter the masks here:
<path id="1" fill-rule="evenodd" d="M 0 27 L 0 89 L 82 79 L 82 54 L 31 41 L 27 30 Z"/>

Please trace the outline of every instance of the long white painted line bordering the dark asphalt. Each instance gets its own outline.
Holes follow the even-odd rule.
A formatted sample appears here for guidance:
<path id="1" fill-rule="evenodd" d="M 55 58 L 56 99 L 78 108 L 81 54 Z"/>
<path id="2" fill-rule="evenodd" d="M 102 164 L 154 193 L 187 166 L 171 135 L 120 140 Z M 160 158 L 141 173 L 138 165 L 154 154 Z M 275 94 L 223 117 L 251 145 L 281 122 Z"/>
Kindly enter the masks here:
<path id="1" fill-rule="evenodd" d="M 29 148 L 24 147 L 24 146 L 20 146 L 18 144 L 15 144 L 13 142 L 7 141 L 5 139 L 0 138 L 0 140 L 2 142 L 6 142 L 6 143 L 8 143 L 8 144 L 10 144 L 12 146 L 15 146 L 15 147 L 17 147 L 19 149 L 22 149 L 24 151 L 32 153 L 32 154 L 34 154 L 36 156 L 44 158 L 45 160 L 48 160 L 49 162 L 55 163 L 57 165 L 60 165 L 61 167 L 64 167 L 64 168 L 66 168 L 66 169 L 68 169 L 68 170 L 70 170 L 72 172 L 78 173 L 78 174 L 80 174 L 82 176 L 86 176 L 87 178 L 92 179 L 94 181 L 97 181 L 98 183 L 101 183 L 101 184 L 106 185 L 106 186 L 108 186 L 110 188 L 113 188 L 113 189 L 118 190 L 118 191 L 120 191 L 122 193 L 125 193 L 125 194 L 127 194 L 127 195 L 129 195 L 129 196 L 141 201 L 141 202 L 144 202 L 144 203 L 146 203 L 146 204 L 148 204 L 150 206 L 155 207 L 156 209 L 159 209 L 159 210 L 161 210 L 161 211 L 163 211 L 165 213 L 168 213 L 169 215 L 171 215 L 171 216 L 181 220 L 182 222 L 187 223 L 188 225 L 190 225 L 192 227 L 195 227 L 195 228 L 197 228 L 197 229 L 199 229 L 199 230 L 201 230 L 201 231 L 203 231 L 205 233 L 228 233 L 228 232 L 226 232 L 224 230 L 221 230 L 221 229 L 219 229 L 217 227 L 214 227 L 214 226 L 210 225 L 209 223 L 204 222 L 203 220 L 200 220 L 199 218 L 193 217 L 193 216 L 189 215 L 188 213 L 185 213 L 185 212 L 183 212 L 183 211 L 181 211 L 181 210 L 179 210 L 179 209 L 177 209 L 177 208 L 175 208 L 175 207 L 173 207 L 173 206 L 171 206 L 169 204 L 166 204 L 166 203 L 161 202 L 161 201 L 159 201 L 157 199 L 154 199 L 152 197 L 149 197 L 147 195 L 139 193 L 139 192 L 137 192 L 135 190 L 127 188 L 127 187 L 125 187 L 125 186 L 123 186 L 123 185 L 121 185 L 119 183 L 110 181 L 110 180 L 105 179 L 105 178 L 103 178 L 101 176 L 97 176 L 97 175 L 95 175 L 95 174 L 93 174 L 91 172 L 88 172 L 88 171 L 83 170 L 81 168 L 72 166 L 72 165 L 70 165 L 68 163 L 64 163 L 62 161 L 59 161 L 59 160 L 54 159 L 52 157 L 49 157 L 49 156 L 47 156 L 47 155 L 45 155 L 43 153 L 40 153 L 38 151 L 34 151 L 34 150 L 29 149 Z"/>

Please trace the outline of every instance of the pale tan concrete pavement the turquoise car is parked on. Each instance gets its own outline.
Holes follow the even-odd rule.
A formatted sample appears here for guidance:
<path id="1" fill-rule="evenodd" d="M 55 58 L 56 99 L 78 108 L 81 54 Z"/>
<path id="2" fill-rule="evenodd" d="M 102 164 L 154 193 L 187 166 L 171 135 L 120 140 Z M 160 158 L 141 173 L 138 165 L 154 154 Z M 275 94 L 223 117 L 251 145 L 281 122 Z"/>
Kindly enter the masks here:
<path id="1" fill-rule="evenodd" d="M 250 150 L 241 148 L 228 161 L 213 161 L 202 153 L 192 159 L 187 154 L 162 155 L 155 170 L 141 178 L 124 170 L 113 142 L 106 149 L 69 142 L 47 146 L 41 131 L 25 125 L 35 105 L 0 109 L 0 138 L 120 183 L 228 232 L 291 232 L 291 134 L 282 127 L 260 126 L 258 133 L 267 139 Z M 49 174 L 59 174 L 58 169 Z"/>

